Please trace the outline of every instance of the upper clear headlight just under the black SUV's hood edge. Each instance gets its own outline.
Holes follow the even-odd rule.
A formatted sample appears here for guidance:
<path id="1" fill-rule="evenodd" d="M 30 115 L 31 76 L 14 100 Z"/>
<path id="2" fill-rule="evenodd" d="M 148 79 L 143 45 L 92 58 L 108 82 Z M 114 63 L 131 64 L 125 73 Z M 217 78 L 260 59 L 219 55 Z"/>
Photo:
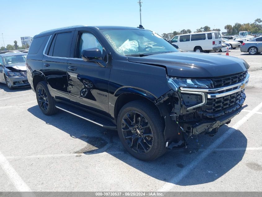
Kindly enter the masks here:
<path id="1" fill-rule="evenodd" d="M 213 88 L 213 83 L 210 79 L 184 79 L 168 77 L 167 83 L 174 91 L 178 91 L 179 87 Z"/>

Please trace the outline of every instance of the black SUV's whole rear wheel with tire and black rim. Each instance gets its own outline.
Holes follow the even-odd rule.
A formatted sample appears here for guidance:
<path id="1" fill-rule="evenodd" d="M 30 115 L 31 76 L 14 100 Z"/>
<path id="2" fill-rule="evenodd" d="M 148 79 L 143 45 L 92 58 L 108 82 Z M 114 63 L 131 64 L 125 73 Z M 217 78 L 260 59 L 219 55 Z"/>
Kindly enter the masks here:
<path id="1" fill-rule="evenodd" d="M 40 110 L 45 115 L 53 115 L 58 109 L 56 108 L 56 102 L 51 96 L 46 82 L 39 82 L 36 86 L 36 99 Z"/>

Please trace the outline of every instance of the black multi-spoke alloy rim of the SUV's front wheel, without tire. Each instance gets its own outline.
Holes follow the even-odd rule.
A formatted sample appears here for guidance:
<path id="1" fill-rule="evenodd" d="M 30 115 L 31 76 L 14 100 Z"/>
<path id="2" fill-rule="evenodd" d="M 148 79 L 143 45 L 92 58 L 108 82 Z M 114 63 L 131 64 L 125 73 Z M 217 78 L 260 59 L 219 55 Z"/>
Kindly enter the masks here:
<path id="1" fill-rule="evenodd" d="M 122 134 L 136 153 L 148 153 L 153 147 L 154 134 L 149 121 L 138 111 L 128 111 L 122 118 Z"/>

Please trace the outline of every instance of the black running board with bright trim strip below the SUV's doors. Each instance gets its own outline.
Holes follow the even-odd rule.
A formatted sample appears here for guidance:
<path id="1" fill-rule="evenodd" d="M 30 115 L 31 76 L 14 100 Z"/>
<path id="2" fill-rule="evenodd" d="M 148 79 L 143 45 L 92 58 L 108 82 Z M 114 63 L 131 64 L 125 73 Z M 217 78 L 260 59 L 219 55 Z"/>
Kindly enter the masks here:
<path id="1" fill-rule="evenodd" d="M 112 129 L 112 130 L 117 130 L 117 126 L 115 124 L 113 124 L 111 121 L 109 120 L 105 120 L 99 116 L 93 115 L 91 113 L 87 113 L 85 111 L 82 111 L 80 109 L 77 108 L 73 108 L 71 106 L 65 105 L 65 104 L 56 104 L 56 108 L 66 111 L 69 114 L 73 114 L 75 116 L 78 116 L 79 118 L 82 118 L 84 120 L 87 120 L 91 123 L 97 124 L 101 127 L 104 127 L 106 129 Z"/>

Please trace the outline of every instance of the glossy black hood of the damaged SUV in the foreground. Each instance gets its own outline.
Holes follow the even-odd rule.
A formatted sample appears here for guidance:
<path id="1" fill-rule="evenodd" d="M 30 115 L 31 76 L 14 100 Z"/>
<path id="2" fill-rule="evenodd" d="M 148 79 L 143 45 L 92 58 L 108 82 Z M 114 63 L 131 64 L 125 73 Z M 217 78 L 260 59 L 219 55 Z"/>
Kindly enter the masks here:
<path id="1" fill-rule="evenodd" d="M 173 77 L 220 77 L 241 73 L 249 68 L 242 59 L 232 56 L 173 52 L 144 57 L 127 57 L 127 61 L 165 67 L 167 75 Z"/>

